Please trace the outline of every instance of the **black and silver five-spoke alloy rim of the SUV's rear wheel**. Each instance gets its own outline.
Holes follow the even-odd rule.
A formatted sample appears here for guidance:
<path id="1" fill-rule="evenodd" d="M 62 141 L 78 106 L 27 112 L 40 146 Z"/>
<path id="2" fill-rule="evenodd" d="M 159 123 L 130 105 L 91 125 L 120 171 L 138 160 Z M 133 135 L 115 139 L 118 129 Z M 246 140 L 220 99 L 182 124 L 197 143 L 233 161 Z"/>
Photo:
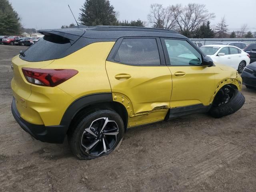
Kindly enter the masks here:
<path id="1" fill-rule="evenodd" d="M 96 119 L 84 129 L 81 137 L 82 148 L 89 155 L 99 156 L 113 148 L 118 133 L 115 121 L 107 117 Z"/>

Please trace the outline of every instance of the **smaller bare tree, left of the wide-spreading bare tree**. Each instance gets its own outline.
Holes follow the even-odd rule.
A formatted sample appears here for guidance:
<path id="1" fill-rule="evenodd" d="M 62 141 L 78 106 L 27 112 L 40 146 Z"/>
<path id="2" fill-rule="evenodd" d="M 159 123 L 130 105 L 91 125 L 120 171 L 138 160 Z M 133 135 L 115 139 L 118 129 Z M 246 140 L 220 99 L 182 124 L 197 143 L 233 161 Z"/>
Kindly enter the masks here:
<path id="1" fill-rule="evenodd" d="M 148 21 L 155 28 L 172 29 L 175 27 L 171 6 L 164 8 L 162 4 L 151 4 Z"/>

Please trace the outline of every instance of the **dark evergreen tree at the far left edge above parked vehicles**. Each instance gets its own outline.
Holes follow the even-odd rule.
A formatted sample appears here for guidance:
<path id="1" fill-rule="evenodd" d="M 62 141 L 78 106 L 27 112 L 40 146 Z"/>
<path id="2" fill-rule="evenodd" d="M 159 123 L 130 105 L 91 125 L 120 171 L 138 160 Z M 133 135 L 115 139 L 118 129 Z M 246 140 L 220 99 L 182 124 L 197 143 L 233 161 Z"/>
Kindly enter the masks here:
<path id="1" fill-rule="evenodd" d="M 0 0 L 0 34 L 20 34 L 20 17 L 8 0 Z"/>

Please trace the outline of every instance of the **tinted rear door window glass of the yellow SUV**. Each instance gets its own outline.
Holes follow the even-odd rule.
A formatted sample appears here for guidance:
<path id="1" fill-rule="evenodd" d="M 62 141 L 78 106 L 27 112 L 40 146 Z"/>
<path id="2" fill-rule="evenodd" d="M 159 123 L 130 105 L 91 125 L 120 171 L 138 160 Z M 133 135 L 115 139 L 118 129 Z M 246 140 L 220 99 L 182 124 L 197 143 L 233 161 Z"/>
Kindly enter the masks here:
<path id="1" fill-rule="evenodd" d="M 156 39 L 124 39 L 114 60 L 124 64 L 132 65 L 160 65 L 160 56 Z"/>

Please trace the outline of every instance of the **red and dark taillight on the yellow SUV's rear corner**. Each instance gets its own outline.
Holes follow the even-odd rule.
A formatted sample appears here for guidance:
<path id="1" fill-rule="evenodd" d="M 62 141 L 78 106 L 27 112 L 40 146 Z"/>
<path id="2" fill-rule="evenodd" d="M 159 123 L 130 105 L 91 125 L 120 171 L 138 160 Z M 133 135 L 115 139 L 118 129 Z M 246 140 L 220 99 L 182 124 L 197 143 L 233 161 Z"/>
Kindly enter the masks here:
<path id="1" fill-rule="evenodd" d="M 55 87 L 75 76 L 74 69 L 34 69 L 22 68 L 26 80 L 32 84 Z"/>

